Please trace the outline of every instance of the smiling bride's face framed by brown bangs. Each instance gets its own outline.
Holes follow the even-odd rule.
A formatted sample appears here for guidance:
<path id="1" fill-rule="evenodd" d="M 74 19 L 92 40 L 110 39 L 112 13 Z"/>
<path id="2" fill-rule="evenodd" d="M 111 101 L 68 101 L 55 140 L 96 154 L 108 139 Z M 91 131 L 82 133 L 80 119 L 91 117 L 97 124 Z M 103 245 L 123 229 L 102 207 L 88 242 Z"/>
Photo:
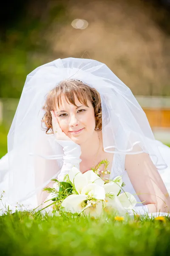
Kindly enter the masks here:
<path id="1" fill-rule="evenodd" d="M 56 116 L 62 131 L 75 143 L 81 144 L 91 139 L 95 132 L 94 108 L 90 100 L 87 99 L 88 107 L 79 102 L 75 96 L 74 106 L 68 103 L 62 95 L 61 105 L 56 106 Z"/>

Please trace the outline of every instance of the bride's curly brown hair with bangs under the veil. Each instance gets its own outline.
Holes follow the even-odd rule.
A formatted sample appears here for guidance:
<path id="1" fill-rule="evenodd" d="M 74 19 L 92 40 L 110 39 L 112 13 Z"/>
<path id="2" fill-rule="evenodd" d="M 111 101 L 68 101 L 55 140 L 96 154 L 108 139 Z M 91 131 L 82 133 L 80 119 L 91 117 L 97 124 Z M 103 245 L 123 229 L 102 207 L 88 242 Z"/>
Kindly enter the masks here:
<path id="1" fill-rule="evenodd" d="M 51 90 L 46 96 L 45 105 L 42 107 L 45 110 L 45 114 L 42 118 L 42 122 L 45 123 L 46 134 L 53 133 L 51 112 L 61 105 L 61 96 L 65 95 L 65 99 L 68 103 L 75 104 L 75 96 L 80 103 L 88 107 L 87 99 L 89 99 L 94 107 L 94 116 L 96 119 L 95 131 L 102 130 L 102 107 L 100 94 L 95 88 L 84 84 L 79 80 L 64 80 L 61 81 L 53 90 Z M 48 131 L 52 132 L 48 132 Z"/>

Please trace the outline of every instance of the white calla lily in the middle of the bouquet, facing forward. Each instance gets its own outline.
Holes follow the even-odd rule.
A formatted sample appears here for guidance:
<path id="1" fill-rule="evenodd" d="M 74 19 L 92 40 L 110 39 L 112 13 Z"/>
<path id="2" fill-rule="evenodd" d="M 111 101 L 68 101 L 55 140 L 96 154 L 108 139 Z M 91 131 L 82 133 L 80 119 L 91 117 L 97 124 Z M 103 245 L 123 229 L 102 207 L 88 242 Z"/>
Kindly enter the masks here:
<path id="1" fill-rule="evenodd" d="M 82 195 L 88 195 L 90 198 L 105 200 L 105 189 L 95 183 L 89 183 L 82 189 Z"/>

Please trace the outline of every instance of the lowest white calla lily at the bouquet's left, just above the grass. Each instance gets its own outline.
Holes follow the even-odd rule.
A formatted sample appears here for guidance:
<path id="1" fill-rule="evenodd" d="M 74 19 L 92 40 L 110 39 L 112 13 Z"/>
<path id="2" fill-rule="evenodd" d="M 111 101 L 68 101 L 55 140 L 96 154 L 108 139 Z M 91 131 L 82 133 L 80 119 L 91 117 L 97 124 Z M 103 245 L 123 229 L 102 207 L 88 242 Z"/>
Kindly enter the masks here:
<path id="1" fill-rule="evenodd" d="M 82 212 L 83 203 L 87 199 L 87 195 L 69 195 L 65 198 L 61 204 L 62 207 L 65 207 L 67 212 Z"/>

